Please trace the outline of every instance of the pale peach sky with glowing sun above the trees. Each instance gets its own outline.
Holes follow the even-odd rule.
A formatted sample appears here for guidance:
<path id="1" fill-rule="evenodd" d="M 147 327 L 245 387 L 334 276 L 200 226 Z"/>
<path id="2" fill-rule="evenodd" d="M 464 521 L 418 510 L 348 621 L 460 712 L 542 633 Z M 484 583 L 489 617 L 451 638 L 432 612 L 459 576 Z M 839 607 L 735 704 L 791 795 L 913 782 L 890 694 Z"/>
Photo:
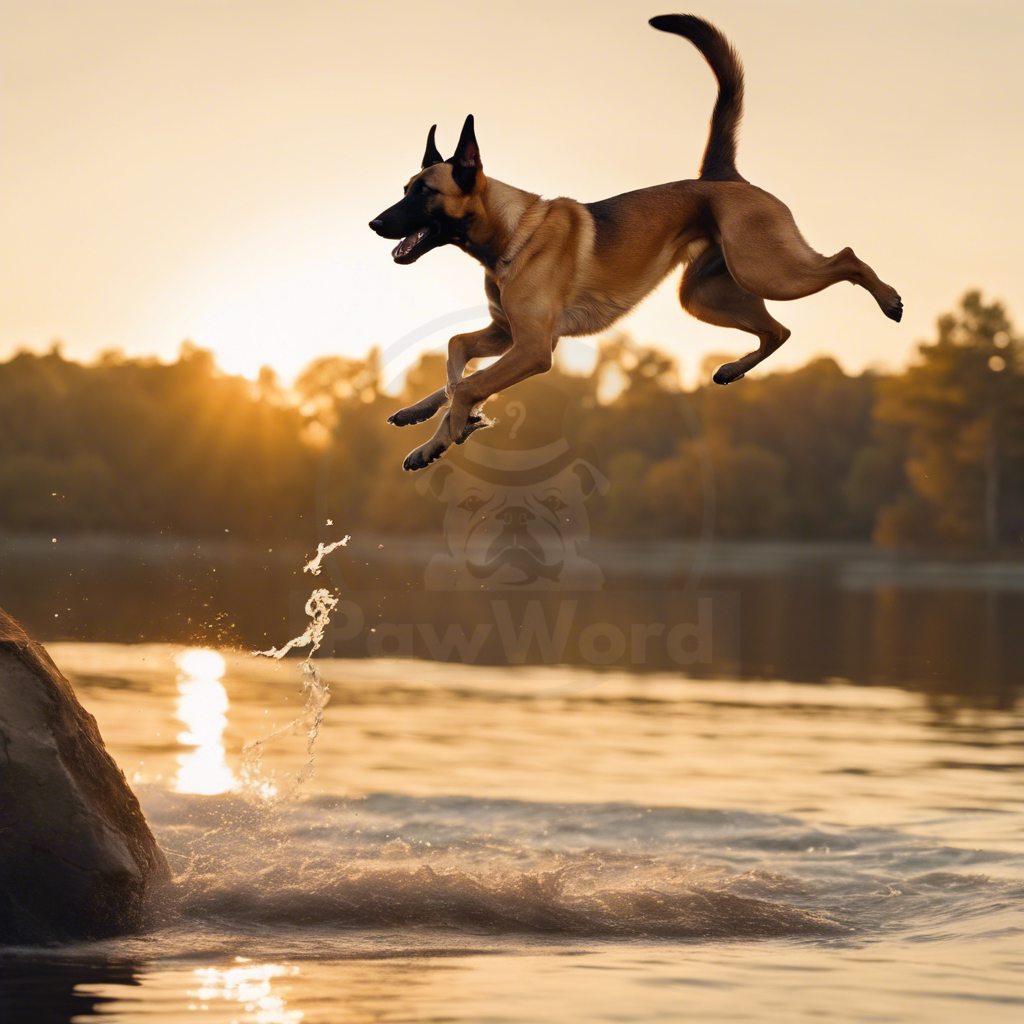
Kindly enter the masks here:
<path id="1" fill-rule="evenodd" d="M 483 272 L 413 266 L 368 221 L 427 129 L 475 115 L 484 171 L 584 202 L 693 177 L 714 79 L 631 0 L 0 0 L 0 358 L 60 340 L 292 379 L 377 344 L 395 379 L 482 324 Z M 683 8 L 684 10 L 687 8 Z M 903 323 L 846 285 L 769 303 L 793 338 L 898 368 L 969 288 L 1024 324 L 1024 3 L 694 0 L 746 70 L 737 164 L 830 254 L 852 246 Z M 675 355 L 753 347 L 683 313 L 673 275 L 620 323 Z M 583 365 L 594 342 L 570 347 Z"/>

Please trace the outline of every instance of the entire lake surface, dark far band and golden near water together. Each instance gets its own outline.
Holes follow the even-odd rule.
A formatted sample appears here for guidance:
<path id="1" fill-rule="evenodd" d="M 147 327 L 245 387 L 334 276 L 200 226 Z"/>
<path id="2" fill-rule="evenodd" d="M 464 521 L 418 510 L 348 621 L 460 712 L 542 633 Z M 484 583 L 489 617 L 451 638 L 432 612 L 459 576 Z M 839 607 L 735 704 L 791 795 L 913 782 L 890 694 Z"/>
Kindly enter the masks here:
<path id="1" fill-rule="evenodd" d="M 295 595 L 319 578 L 146 557 L 23 549 L 0 572 L 176 873 L 144 934 L 4 950 L 0 1019 L 1024 1015 L 1013 571 L 936 585 L 924 563 L 762 547 L 720 551 L 687 589 L 634 553 L 603 597 L 542 607 L 630 627 L 617 659 L 609 630 L 573 625 L 566 664 L 538 642 L 509 667 L 497 626 L 474 664 L 422 657 L 421 627 L 472 622 L 472 600 L 402 596 L 375 563 L 342 595 L 359 630 L 329 631 L 343 656 L 316 660 L 330 701 L 306 709 L 299 660 L 248 649 L 300 632 Z M 401 629 L 375 639 L 382 608 L 411 651 Z"/>

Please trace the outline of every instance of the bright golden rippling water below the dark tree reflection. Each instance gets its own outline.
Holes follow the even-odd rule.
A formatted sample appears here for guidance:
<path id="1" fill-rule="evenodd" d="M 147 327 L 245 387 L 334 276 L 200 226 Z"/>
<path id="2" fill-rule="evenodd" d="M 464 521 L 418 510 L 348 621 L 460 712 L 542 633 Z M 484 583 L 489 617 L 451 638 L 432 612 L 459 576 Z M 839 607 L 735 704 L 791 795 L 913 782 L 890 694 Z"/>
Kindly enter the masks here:
<path id="1" fill-rule="evenodd" d="M 1024 1016 L 1017 696 L 319 659 L 265 800 L 296 660 L 50 650 L 176 880 L 143 935 L 5 951 L 4 1020 Z"/>

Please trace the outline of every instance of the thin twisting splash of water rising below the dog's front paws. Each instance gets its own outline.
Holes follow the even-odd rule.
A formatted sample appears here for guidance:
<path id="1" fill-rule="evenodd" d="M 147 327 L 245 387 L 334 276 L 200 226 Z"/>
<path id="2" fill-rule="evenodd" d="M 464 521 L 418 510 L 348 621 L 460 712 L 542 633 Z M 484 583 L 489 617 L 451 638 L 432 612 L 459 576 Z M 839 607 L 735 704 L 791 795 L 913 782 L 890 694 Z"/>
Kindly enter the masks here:
<path id="1" fill-rule="evenodd" d="M 329 555 L 337 548 L 343 548 L 348 544 L 350 538 L 346 535 L 340 541 L 333 544 L 317 544 L 316 555 L 306 562 L 302 567 L 303 572 L 310 572 L 312 575 L 319 575 L 321 562 L 325 555 Z M 296 647 L 308 647 L 309 652 L 302 659 L 302 689 L 300 692 L 306 696 L 302 711 L 287 725 L 275 729 L 261 739 L 254 739 L 243 748 L 242 751 L 242 779 L 245 792 L 263 803 L 273 803 L 286 800 L 313 773 L 313 760 L 316 755 L 313 746 L 316 736 L 319 734 L 321 724 L 324 721 L 324 709 L 331 699 L 331 688 L 328 683 L 321 679 L 319 670 L 313 662 L 319 645 L 324 642 L 324 635 L 331 622 L 331 612 L 338 606 L 336 598 L 329 590 L 319 588 L 314 590 L 306 601 L 306 614 L 309 616 L 309 625 L 299 636 L 289 640 L 283 647 L 271 647 L 269 650 L 257 650 L 254 653 L 261 657 L 282 658 L 290 650 Z M 263 750 L 267 743 L 282 736 L 297 735 L 304 731 L 306 736 L 306 755 L 308 760 L 295 775 L 287 775 L 284 785 L 279 784 L 272 774 L 266 777 L 262 771 Z"/>

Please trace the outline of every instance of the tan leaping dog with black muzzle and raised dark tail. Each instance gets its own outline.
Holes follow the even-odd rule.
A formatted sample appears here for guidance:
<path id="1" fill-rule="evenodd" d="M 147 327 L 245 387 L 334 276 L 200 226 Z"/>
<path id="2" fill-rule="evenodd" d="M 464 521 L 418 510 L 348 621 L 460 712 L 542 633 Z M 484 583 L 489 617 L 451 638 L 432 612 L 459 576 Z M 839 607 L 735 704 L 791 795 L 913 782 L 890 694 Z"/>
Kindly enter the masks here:
<path id="1" fill-rule="evenodd" d="M 754 351 L 718 369 L 717 384 L 740 380 L 790 337 L 765 299 L 800 299 L 848 281 L 866 289 L 888 317 L 902 317 L 896 290 L 852 249 L 815 252 L 788 207 L 736 170 L 743 72 L 725 36 L 692 14 L 663 14 L 650 25 L 693 43 L 718 80 L 697 178 L 597 203 L 542 199 L 484 175 L 470 115 L 449 160 L 435 144 L 437 126 L 430 129 L 404 198 L 370 222 L 383 238 L 401 240 L 391 253 L 396 263 L 415 263 L 443 245 L 478 260 L 492 316 L 482 330 L 451 339 L 444 387 L 389 417 L 408 426 L 444 409 L 404 469 L 425 468 L 489 426 L 483 402 L 549 370 L 560 337 L 605 330 L 680 265 L 679 300 L 691 316 L 758 338 Z M 465 376 L 471 360 L 493 356 L 500 358 Z"/>

